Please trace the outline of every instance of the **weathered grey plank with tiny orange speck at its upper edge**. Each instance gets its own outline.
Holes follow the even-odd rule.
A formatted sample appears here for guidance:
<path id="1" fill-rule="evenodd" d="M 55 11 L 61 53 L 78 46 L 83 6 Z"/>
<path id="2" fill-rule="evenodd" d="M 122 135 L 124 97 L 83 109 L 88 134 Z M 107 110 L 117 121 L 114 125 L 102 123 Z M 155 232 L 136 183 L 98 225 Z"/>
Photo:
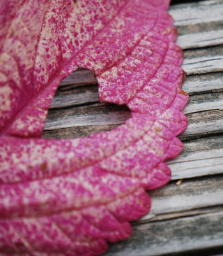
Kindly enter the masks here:
<path id="1" fill-rule="evenodd" d="M 215 184 L 215 185 L 213 185 Z M 223 211 L 223 176 L 210 176 L 199 179 L 183 180 L 180 185 L 171 182 L 164 187 L 148 192 L 151 198 L 151 211 L 142 221 L 167 220 L 179 215 L 191 215 L 192 212 Z M 215 207 L 213 207 L 215 206 Z"/>

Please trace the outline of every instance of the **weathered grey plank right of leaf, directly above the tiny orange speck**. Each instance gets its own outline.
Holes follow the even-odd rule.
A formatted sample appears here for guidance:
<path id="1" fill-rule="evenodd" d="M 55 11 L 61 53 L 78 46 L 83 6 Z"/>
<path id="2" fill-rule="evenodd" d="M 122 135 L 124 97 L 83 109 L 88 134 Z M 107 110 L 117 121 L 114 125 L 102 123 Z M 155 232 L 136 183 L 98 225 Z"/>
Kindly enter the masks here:
<path id="1" fill-rule="evenodd" d="M 223 136 L 185 142 L 183 152 L 167 164 L 172 180 L 223 173 Z"/>

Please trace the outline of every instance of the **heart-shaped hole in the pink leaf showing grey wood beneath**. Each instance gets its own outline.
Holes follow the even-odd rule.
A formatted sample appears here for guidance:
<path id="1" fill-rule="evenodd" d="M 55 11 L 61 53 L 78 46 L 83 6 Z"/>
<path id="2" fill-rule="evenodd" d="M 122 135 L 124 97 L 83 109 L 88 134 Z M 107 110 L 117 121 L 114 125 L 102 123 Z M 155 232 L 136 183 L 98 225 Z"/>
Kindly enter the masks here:
<path id="1" fill-rule="evenodd" d="M 125 105 L 100 102 L 94 74 L 77 69 L 59 84 L 49 107 L 43 138 L 76 138 L 109 131 L 130 115 Z"/>

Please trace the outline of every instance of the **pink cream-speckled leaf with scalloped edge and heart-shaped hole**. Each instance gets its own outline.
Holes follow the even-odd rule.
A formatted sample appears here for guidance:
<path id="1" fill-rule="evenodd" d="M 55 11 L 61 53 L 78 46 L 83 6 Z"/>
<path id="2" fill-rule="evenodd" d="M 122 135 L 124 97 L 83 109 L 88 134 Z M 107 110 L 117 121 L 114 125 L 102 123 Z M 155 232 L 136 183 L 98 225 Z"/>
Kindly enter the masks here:
<path id="1" fill-rule="evenodd" d="M 0 255 L 90 256 L 127 239 L 145 190 L 183 149 L 182 51 L 166 0 L 0 0 Z M 78 67 L 132 116 L 88 138 L 41 138 Z"/>

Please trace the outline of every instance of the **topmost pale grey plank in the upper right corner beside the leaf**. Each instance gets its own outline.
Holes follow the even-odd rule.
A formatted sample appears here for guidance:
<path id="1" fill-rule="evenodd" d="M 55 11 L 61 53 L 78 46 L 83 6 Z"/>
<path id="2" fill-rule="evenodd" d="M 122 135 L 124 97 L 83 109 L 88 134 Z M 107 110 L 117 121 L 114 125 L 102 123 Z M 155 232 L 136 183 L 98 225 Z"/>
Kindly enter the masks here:
<path id="1" fill-rule="evenodd" d="M 185 26 L 197 23 L 217 22 L 222 20 L 223 1 L 200 1 L 171 6 L 170 15 L 174 17 L 174 25 Z"/>

